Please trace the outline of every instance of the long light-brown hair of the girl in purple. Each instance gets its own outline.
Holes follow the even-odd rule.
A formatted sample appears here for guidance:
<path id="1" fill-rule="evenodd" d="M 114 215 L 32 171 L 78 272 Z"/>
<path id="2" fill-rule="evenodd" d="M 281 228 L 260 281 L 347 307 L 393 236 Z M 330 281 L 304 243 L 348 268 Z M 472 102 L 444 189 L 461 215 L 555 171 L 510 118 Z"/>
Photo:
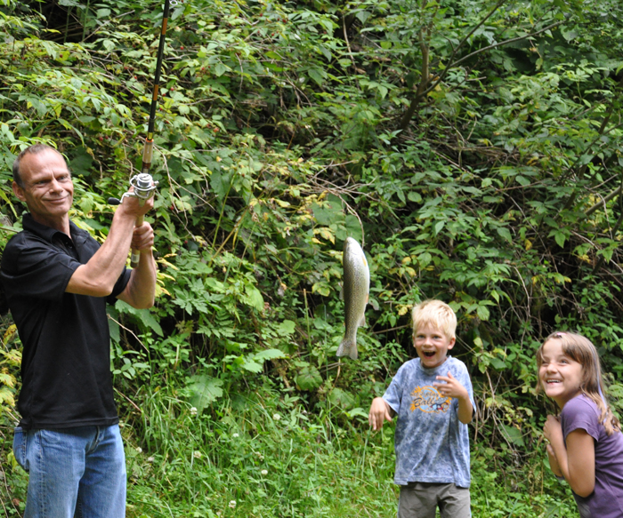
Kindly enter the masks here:
<path id="1" fill-rule="evenodd" d="M 589 397 L 597 408 L 601 411 L 600 420 L 606 429 L 606 434 L 613 434 L 620 430 L 619 419 L 612 413 L 608 400 L 604 394 L 604 384 L 602 377 L 602 367 L 599 362 L 599 355 L 593 343 L 576 333 L 557 331 L 549 335 L 537 351 L 538 369 L 543 364 L 543 346 L 548 340 L 560 340 L 562 353 L 569 356 L 574 362 L 582 365 L 582 382 L 580 390 L 582 394 Z M 543 390 L 541 379 L 538 377 L 537 391 Z"/>

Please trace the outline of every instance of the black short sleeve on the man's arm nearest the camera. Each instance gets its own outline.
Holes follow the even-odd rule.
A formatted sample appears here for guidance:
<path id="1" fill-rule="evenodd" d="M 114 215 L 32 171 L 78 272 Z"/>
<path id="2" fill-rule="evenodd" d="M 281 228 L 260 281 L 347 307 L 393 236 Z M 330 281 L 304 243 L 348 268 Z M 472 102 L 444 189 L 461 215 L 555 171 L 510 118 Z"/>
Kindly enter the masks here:
<path id="1" fill-rule="evenodd" d="M 4 249 L 0 274 L 7 293 L 60 300 L 80 263 L 44 243 L 28 243 L 23 248 L 11 244 Z"/>

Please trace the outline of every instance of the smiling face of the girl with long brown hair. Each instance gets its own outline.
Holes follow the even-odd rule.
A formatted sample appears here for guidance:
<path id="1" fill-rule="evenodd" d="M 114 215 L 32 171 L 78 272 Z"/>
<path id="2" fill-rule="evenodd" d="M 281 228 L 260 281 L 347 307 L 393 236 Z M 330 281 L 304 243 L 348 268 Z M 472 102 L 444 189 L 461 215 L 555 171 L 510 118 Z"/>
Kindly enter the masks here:
<path id="1" fill-rule="evenodd" d="M 541 352 L 543 363 L 538 368 L 538 379 L 546 395 L 562 408 L 581 392 L 582 364 L 565 355 L 557 339 L 548 339 Z"/>

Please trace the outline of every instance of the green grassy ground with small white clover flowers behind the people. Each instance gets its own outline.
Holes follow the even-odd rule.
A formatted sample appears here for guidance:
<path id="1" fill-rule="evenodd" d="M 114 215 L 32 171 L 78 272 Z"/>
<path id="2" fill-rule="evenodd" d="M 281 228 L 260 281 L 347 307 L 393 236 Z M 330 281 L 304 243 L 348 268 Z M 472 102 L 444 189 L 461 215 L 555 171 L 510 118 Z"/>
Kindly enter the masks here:
<path id="1" fill-rule="evenodd" d="M 174 392 L 137 394 L 125 410 L 129 518 L 394 517 L 392 427 L 370 434 L 363 418 L 263 391 L 231 396 L 198 415 Z M 134 400 L 136 401 L 136 400 Z M 0 516 L 20 516 L 27 475 L 12 465 L 0 429 Z M 540 461 L 507 467 L 472 445 L 474 517 L 578 516 L 570 491 Z"/>

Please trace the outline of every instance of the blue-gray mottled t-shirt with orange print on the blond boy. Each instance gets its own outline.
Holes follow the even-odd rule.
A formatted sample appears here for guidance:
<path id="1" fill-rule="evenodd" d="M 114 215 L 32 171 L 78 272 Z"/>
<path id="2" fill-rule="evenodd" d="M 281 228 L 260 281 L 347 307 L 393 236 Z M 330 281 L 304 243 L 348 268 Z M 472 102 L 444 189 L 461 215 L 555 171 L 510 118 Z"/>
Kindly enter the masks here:
<path id="1" fill-rule="evenodd" d="M 442 396 L 433 386 L 437 376 L 448 376 L 448 372 L 467 389 L 475 409 L 465 363 L 451 356 L 435 369 L 422 367 L 419 358 L 409 360 L 383 394 L 398 416 L 393 480 L 399 485 L 438 482 L 469 488 L 467 425 L 458 420 L 458 400 Z"/>

